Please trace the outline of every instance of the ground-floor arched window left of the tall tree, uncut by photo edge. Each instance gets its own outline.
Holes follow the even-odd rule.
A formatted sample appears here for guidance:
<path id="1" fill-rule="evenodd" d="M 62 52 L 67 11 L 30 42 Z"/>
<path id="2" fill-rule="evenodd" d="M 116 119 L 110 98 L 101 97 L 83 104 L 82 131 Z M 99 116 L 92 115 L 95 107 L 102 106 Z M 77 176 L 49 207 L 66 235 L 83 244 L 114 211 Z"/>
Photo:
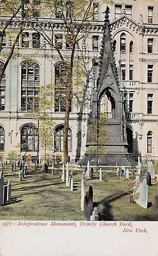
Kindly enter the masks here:
<path id="1" fill-rule="evenodd" d="M 38 128 L 35 125 L 27 124 L 22 127 L 20 146 L 21 151 L 25 152 L 38 150 Z"/>

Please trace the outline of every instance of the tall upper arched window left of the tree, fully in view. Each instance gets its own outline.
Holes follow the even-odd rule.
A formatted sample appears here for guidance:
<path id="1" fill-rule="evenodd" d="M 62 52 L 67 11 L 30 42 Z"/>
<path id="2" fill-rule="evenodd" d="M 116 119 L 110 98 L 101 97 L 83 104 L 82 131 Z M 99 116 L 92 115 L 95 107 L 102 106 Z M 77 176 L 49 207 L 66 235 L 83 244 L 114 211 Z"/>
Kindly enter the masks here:
<path id="1" fill-rule="evenodd" d="M 21 109 L 34 111 L 39 102 L 39 65 L 32 61 L 22 64 Z"/>

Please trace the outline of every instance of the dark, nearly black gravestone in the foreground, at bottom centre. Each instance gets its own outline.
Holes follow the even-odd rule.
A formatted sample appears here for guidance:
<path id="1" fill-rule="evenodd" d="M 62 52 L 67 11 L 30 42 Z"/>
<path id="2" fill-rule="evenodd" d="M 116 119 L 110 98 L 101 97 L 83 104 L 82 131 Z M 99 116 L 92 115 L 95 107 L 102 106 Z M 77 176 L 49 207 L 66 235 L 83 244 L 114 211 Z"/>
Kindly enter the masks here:
<path id="1" fill-rule="evenodd" d="M 89 186 L 89 191 L 87 191 L 85 196 L 84 212 L 86 220 L 90 220 L 92 215 L 92 201 L 93 201 L 93 189 Z"/>

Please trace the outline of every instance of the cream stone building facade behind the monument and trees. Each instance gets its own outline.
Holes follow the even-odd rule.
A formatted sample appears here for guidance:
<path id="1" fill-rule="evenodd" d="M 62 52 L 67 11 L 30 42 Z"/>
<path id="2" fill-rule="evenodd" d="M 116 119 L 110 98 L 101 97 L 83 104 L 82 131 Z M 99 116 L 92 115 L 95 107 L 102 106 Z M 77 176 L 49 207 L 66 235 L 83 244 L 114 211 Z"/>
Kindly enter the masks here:
<path id="1" fill-rule="evenodd" d="M 97 12 L 99 1 L 94 2 L 95 14 L 92 17 L 91 33 L 78 45 L 76 58 L 84 57 L 89 70 L 85 78 L 85 108 L 79 108 L 72 102 L 69 118 L 69 157 L 73 161 L 82 159 L 86 152 L 87 122 L 92 93 L 96 86 L 99 70 L 101 42 L 103 40 L 104 11 L 102 4 Z M 127 152 L 136 159 L 141 155 L 144 159 L 158 158 L 158 3 L 156 0 L 118 1 L 110 6 L 111 44 L 117 72 L 119 74 L 120 97 L 123 103 Z M 7 20 L 1 15 L 0 19 Z M 47 31 L 47 19 L 39 18 Z M 55 35 L 61 43 L 61 51 L 66 56 L 68 45 L 64 38 L 61 20 L 54 18 Z M 35 22 L 36 23 L 36 22 Z M 11 24 L 16 28 L 17 23 Z M 36 38 L 36 40 L 34 40 Z M 6 35 L 3 54 L 0 56 L 1 67 L 5 52 L 10 47 L 10 38 Z M 82 51 L 79 51 L 79 50 Z M 55 84 L 55 77 L 60 76 L 60 58 L 54 49 L 45 42 L 42 36 L 32 29 L 29 22 L 13 54 L 1 82 L 0 95 L 0 150 L 4 159 L 11 150 L 17 150 L 22 156 L 31 154 L 36 159 L 38 151 L 38 120 L 28 116 L 30 102 L 38 97 L 39 86 Z M 55 85 L 54 85 L 55 86 Z M 54 87 L 55 91 L 55 87 Z M 57 93 L 57 92 L 56 92 Z M 59 93 L 59 92 L 58 92 Z M 55 93 L 54 93 L 55 97 Z M 63 95 L 60 95 L 61 99 Z M 64 106 L 62 100 L 55 98 L 54 107 L 49 115 L 52 120 L 56 152 L 62 154 L 62 138 L 64 124 Z M 111 104 L 106 97 L 101 102 L 101 109 L 112 119 Z M 21 145 L 21 147 L 17 147 Z M 48 152 L 55 154 L 54 147 Z M 39 156 L 43 151 L 39 150 Z"/>

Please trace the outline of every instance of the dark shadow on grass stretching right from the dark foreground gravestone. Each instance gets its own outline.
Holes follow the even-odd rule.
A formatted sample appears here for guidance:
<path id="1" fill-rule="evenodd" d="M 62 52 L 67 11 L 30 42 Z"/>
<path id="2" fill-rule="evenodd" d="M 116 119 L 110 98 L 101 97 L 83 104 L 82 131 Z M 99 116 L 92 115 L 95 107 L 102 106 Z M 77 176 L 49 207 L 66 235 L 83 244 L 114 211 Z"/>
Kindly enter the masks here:
<path id="1" fill-rule="evenodd" d="M 99 221 L 111 221 L 113 220 L 113 214 L 111 212 L 112 206 L 110 205 L 110 202 L 113 202 L 117 200 L 118 198 L 121 198 L 122 196 L 126 196 L 129 194 L 128 191 L 121 191 L 120 193 L 106 196 L 103 200 L 100 202 L 94 202 L 94 207 L 98 207 L 99 205 L 102 205 L 103 210 L 99 212 Z"/>

